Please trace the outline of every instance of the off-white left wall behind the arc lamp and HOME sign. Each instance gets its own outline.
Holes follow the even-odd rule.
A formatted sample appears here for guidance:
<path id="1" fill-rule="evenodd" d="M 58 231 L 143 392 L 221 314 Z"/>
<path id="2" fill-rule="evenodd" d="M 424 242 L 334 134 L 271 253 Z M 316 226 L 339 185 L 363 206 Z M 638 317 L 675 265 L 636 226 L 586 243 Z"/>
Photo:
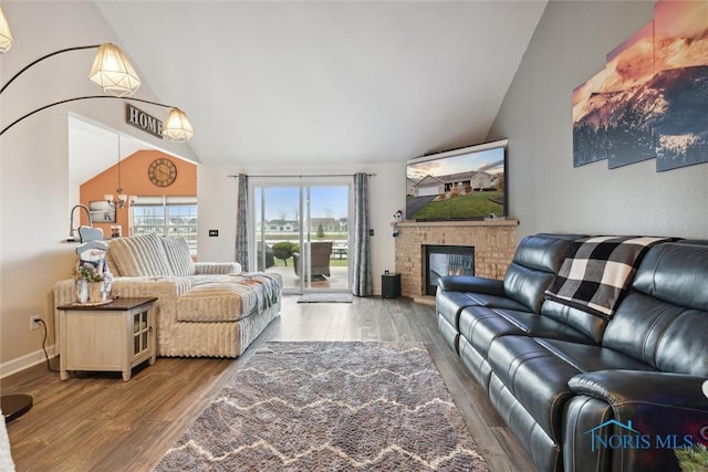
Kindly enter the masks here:
<path id="1" fill-rule="evenodd" d="M 2 84 L 46 53 L 117 42 L 92 2 L 4 2 L 2 8 L 15 39 L 12 49 L 0 55 Z M 95 50 L 69 52 L 25 72 L 0 98 L 2 127 L 45 104 L 100 94 L 87 78 L 94 55 Z M 134 65 L 139 73 L 139 64 Z M 146 83 L 136 96 L 157 99 Z M 69 113 L 194 158 L 185 146 L 158 143 L 125 124 L 124 107 L 117 99 L 56 106 L 0 138 L 0 376 L 43 360 L 42 331 L 29 329 L 31 315 L 39 314 L 49 324 L 51 350 L 52 290 L 73 273 L 75 245 L 62 242 L 69 235 L 69 209 L 77 203 L 70 201 Z"/>

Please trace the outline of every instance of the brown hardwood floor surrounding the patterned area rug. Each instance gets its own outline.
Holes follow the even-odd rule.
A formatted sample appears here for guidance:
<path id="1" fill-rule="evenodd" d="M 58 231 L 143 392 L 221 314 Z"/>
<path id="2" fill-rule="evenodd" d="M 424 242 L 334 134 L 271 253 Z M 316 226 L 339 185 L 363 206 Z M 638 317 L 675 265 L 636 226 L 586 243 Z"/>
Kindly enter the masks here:
<path id="1" fill-rule="evenodd" d="M 268 340 L 417 340 L 426 344 L 480 453 L 492 471 L 531 471 L 528 457 L 487 395 L 438 333 L 431 306 L 406 298 L 298 304 L 285 296 L 281 316 L 239 359 L 158 357 L 124 382 L 121 374 L 71 374 L 62 381 L 45 364 L 2 380 L 2 394 L 34 397 L 8 423 L 17 470 L 147 471 L 218 394 L 229 375 Z M 58 367 L 58 359 L 52 366 Z"/>

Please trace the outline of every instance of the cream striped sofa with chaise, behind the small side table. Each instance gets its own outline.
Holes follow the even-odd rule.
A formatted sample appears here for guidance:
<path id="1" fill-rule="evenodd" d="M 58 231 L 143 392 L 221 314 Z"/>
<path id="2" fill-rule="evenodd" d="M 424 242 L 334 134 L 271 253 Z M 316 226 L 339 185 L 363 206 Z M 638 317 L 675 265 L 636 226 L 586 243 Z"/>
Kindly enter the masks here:
<path id="1" fill-rule="evenodd" d="M 158 298 L 160 356 L 237 357 L 280 314 L 279 274 L 241 273 L 235 262 L 195 263 L 180 238 L 111 240 L 106 263 L 115 277 L 112 297 Z M 59 282 L 54 306 L 74 303 L 75 292 L 73 279 Z"/>

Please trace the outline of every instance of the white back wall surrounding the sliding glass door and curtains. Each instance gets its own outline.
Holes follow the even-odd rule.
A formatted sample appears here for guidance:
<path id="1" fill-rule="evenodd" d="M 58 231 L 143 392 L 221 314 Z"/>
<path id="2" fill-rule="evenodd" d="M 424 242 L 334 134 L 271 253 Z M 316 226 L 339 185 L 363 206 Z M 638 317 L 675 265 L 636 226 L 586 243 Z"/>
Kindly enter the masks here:
<path id="1" fill-rule="evenodd" d="M 243 159 L 244 161 L 247 159 Z M 200 165 L 197 175 L 199 203 L 199 260 L 233 261 L 236 258 L 236 201 L 237 179 L 229 175 L 322 175 L 322 174 L 375 174 L 369 178 L 372 266 L 374 293 L 381 294 L 381 274 L 394 270 L 394 238 L 391 221 L 397 210 L 405 206 L 405 162 L 378 162 L 356 166 L 295 166 L 277 168 L 244 165 Z M 208 230 L 219 230 L 218 238 L 209 238 Z"/>

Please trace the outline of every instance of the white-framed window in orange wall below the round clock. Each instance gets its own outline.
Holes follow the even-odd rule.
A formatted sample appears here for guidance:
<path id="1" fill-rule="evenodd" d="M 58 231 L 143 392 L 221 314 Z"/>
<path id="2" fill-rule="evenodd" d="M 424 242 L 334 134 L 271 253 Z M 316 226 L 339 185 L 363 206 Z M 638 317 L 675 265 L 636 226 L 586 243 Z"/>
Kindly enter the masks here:
<path id="1" fill-rule="evenodd" d="M 197 197 L 138 197 L 131 206 L 131 234 L 158 233 L 187 240 L 197 254 Z"/>

